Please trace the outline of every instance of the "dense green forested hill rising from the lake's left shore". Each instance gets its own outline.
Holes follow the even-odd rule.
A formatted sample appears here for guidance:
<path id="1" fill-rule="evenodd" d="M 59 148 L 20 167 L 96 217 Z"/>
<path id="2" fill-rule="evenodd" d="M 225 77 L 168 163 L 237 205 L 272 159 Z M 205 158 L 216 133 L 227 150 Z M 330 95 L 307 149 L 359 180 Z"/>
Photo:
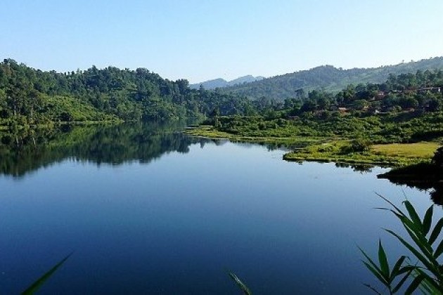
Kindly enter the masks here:
<path id="1" fill-rule="evenodd" d="M 0 125 L 112 119 L 165 120 L 211 112 L 247 114 L 247 98 L 169 81 L 144 68 L 92 66 L 86 71 L 44 72 L 12 59 L 0 63 Z"/>

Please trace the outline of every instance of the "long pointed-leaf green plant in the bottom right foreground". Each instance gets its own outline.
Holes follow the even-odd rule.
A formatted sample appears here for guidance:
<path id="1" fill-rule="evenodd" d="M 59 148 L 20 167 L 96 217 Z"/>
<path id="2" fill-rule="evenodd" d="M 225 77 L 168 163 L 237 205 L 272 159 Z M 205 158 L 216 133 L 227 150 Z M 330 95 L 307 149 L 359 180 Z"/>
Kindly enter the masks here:
<path id="1" fill-rule="evenodd" d="M 399 235 L 389 229 L 384 229 L 395 240 L 404 246 L 406 254 L 402 255 L 394 265 L 389 265 L 385 250 L 378 242 L 378 263 L 370 258 L 362 249 L 364 255 L 362 261 L 366 268 L 373 273 L 374 277 L 384 285 L 386 294 L 412 294 L 420 290 L 422 294 L 442 294 L 443 272 L 441 255 L 443 254 L 443 242 L 439 238 L 443 228 L 443 218 L 435 220 L 432 225 L 434 206 L 431 205 L 425 212 L 423 219 L 418 216 L 416 209 L 408 200 L 403 202 L 406 211 L 402 211 L 385 197 L 389 207 L 382 209 L 392 213 L 402 223 L 407 235 Z M 407 238 L 406 238 L 407 237 Z M 365 284 L 377 294 L 382 294 L 370 284 Z M 403 290 L 403 287 L 407 287 Z"/>

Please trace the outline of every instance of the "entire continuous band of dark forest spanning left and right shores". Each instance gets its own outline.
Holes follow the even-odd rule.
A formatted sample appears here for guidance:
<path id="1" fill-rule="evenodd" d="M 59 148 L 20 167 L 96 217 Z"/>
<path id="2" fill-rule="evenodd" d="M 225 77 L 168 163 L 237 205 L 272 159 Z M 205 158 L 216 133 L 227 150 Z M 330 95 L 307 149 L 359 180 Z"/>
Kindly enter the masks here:
<path id="1" fill-rule="evenodd" d="M 443 59 L 426 60 L 436 65 Z M 425 62 L 420 62 L 424 65 Z M 358 69 L 357 69 L 358 70 Z M 7 59 L 0 63 L 0 128 L 89 121 L 166 121 L 219 116 L 327 119 L 340 112 L 354 117 L 397 112 L 437 112 L 443 107 L 442 70 L 389 74 L 380 84 L 349 84 L 341 91 L 300 88 L 285 100 L 250 100 L 220 91 L 191 89 L 146 69 L 116 67 L 58 73 L 34 70 Z"/>

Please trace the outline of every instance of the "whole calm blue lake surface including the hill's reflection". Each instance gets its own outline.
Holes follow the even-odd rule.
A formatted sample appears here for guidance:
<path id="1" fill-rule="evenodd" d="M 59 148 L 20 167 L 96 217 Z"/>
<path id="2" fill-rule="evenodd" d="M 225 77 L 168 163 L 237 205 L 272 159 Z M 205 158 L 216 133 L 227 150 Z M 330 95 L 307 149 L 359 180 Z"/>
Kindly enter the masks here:
<path id="1" fill-rule="evenodd" d="M 289 163 L 283 150 L 170 127 L 45 136 L 20 138 L 20 153 L 2 140 L 1 294 L 70 251 L 41 294 L 239 294 L 227 270 L 254 294 L 371 294 L 357 244 L 375 256 L 381 237 L 401 253 L 380 229 L 399 227 L 372 209 L 384 205 L 375 192 L 406 194 L 420 212 L 431 204 L 378 180 L 385 169 Z"/>

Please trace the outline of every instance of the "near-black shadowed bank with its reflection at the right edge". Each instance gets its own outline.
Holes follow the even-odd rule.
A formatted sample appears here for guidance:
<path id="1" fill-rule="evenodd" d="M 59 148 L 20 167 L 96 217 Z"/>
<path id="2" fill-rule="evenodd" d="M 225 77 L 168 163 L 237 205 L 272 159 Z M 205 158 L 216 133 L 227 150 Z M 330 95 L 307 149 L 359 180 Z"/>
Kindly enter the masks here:
<path id="1" fill-rule="evenodd" d="M 433 164 L 417 164 L 380 174 L 397 185 L 407 185 L 418 190 L 431 190 L 430 197 L 435 204 L 443 206 L 443 169 Z"/>

